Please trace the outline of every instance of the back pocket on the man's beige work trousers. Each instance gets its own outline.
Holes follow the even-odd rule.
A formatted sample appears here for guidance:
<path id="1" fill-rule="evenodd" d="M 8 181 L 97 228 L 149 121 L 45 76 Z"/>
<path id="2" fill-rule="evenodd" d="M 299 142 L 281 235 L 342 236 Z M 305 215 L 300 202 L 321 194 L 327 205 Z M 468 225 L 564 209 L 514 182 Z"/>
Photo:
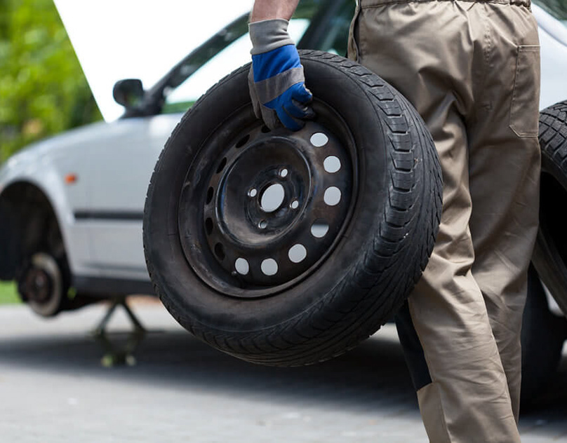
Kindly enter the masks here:
<path id="1" fill-rule="evenodd" d="M 510 128 L 519 137 L 538 137 L 540 46 L 518 46 Z"/>

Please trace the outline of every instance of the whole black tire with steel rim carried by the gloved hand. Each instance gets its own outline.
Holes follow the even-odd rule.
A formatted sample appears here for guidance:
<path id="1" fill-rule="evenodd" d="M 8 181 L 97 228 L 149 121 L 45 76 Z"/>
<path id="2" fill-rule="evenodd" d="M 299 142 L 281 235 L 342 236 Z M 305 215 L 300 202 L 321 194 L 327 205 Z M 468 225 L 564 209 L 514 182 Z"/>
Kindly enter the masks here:
<path id="1" fill-rule="evenodd" d="M 302 51 L 316 118 L 270 131 L 249 65 L 182 118 L 147 192 L 147 268 L 199 339 L 291 366 L 344 353 L 392 318 L 425 268 L 441 168 L 425 123 L 368 69 Z"/>

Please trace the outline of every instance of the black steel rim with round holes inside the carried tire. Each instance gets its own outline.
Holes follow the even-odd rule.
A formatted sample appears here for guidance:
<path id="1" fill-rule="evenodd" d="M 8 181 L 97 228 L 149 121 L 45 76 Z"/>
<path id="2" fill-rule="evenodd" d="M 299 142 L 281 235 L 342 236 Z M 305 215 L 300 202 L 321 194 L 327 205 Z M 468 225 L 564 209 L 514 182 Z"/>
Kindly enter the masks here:
<path id="1" fill-rule="evenodd" d="M 345 231 L 357 193 L 353 137 L 333 109 L 314 108 L 316 122 L 298 132 L 270 131 L 251 111 L 235 112 L 193 159 L 180 242 L 196 275 L 218 292 L 281 292 L 328 259 Z"/>

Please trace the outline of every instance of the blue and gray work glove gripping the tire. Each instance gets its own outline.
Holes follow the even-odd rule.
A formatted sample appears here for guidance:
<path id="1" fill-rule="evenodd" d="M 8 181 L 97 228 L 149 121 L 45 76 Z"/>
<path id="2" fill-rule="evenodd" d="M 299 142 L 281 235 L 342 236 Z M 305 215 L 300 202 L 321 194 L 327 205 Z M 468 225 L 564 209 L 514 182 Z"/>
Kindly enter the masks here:
<path id="1" fill-rule="evenodd" d="M 313 96 L 305 88 L 305 76 L 295 44 L 288 35 L 288 21 L 262 20 L 249 25 L 252 67 L 248 86 L 254 114 L 274 130 L 281 122 L 300 130 L 304 118 L 313 118 L 308 104 Z"/>

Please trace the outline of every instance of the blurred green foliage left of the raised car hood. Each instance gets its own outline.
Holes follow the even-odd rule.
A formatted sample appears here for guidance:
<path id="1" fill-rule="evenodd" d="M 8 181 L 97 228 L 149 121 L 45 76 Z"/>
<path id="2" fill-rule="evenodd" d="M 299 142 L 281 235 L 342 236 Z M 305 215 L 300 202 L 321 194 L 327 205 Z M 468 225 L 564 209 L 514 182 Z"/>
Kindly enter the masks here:
<path id="1" fill-rule="evenodd" d="M 0 163 L 100 118 L 53 0 L 0 0 Z"/>

